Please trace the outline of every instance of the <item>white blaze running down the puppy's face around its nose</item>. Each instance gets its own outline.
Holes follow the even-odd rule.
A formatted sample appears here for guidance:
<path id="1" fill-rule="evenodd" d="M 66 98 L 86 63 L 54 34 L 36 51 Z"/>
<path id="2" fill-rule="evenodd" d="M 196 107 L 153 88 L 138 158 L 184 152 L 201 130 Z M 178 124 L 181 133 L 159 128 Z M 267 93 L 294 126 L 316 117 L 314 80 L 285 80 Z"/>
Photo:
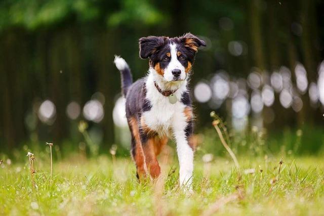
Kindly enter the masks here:
<path id="1" fill-rule="evenodd" d="M 181 70 L 179 80 L 184 80 L 186 78 L 185 68 L 178 60 L 176 44 L 170 44 L 170 54 L 171 54 L 171 61 L 169 62 L 168 66 L 164 71 L 164 78 L 167 81 L 172 81 L 174 76 L 172 74 L 172 70 L 179 69 Z"/>

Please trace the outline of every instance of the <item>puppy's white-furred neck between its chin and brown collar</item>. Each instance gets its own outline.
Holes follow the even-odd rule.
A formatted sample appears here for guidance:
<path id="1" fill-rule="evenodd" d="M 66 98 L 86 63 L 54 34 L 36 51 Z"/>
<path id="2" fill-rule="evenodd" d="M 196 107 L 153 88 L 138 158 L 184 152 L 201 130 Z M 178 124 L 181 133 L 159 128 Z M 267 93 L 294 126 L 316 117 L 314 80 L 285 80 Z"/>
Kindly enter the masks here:
<path id="1" fill-rule="evenodd" d="M 182 81 L 165 81 L 164 78 L 152 67 L 150 67 L 148 70 L 148 76 L 150 76 L 153 81 L 157 83 L 158 87 L 162 91 L 177 91 L 179 89 L 186 89 L 188 83 L 188 77 Z"/>

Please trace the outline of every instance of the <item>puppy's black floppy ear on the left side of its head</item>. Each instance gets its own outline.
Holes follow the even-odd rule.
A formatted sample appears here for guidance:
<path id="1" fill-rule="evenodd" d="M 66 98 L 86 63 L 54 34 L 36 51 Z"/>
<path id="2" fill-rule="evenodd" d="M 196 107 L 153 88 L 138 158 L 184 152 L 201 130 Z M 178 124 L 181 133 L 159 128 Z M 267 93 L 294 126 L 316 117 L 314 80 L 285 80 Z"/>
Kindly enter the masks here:
<path id="1" fill-rule="evenodd" d="M 139 39 L 140 57 L 142 59 L 149 58 L 161 46 L 165 44 L 167 37 L 148 36 Z"/>

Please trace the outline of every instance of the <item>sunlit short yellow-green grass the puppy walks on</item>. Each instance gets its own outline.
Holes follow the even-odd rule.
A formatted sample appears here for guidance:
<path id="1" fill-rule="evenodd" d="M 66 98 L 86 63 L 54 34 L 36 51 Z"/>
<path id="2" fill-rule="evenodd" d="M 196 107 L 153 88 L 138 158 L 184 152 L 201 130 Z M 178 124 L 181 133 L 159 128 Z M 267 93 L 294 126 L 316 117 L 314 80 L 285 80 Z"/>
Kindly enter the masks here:
<path id="1" fill-rule="evenodd" d="M 178 186 L 178 162 L 165 158 L 157 182 L 139 184 L 129 158 L 71 155 L 53 162 L 35 153 L 0 165 L 1 215 L 322 215 L 324 160 L 320 156 L 195 158 L 193 194 Z M 205 162 L 204 162 L 205 161 Z M 280 171 L 279 171 L 280 166 Z M 33 187 L 33 181 L 35 187 Z"/>

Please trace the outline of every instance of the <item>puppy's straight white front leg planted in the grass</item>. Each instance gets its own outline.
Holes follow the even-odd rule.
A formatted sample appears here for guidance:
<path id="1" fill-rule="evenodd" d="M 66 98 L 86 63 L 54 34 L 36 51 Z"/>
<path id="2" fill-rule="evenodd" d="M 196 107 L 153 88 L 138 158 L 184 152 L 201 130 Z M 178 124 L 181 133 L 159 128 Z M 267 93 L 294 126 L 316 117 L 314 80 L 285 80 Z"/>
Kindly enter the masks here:
<path id="1" fill-rule="evenodd" d="M 192 190 L 193 149 L 189 146 L 188 131 L 192 132 L 191 123 L 176 121 L 174 123 L 174 137 L 177 143 L 177 153 L 180 165 L 180 186 L 185 190 Z M 188 129 L 189 128 L 189 129 Z M 191 135 L 191 134 L 190 134 Z"/>

